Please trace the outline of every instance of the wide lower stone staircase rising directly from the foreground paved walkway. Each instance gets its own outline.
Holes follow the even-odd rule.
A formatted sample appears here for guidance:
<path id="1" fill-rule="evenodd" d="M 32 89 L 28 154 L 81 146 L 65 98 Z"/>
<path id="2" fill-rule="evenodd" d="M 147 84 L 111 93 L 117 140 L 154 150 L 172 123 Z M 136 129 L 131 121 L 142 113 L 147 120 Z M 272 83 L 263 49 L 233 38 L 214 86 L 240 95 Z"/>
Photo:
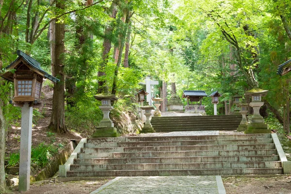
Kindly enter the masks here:
<path id="1" fill-rule="evenodd" d="M 283 174 L 276 146 L 271 134 L 82 139 L 60 177 Z"/>

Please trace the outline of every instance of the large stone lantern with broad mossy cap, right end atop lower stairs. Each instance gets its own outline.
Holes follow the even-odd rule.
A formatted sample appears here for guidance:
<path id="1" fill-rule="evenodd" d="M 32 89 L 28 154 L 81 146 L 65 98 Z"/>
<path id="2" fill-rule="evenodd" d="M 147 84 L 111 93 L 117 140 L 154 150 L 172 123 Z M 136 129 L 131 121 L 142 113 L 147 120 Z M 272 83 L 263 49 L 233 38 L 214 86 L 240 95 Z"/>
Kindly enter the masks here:
<path id="1" fill-rule="evenodd" d="M 271 133 L 271 130 L 268 129 L 267 124 L 265 124 L 264 118 L 259 114 L 259 109 L 264 104 L 261 97 L 266 96 L 267 93 L 268 90 L 259 88 L 254 88 L 245 92 L 246 97 L 252 97 L 250 106 L 254 109 L 254 115 L 251 117 L 250 124 L 248 124 L 244 133 Z"/>

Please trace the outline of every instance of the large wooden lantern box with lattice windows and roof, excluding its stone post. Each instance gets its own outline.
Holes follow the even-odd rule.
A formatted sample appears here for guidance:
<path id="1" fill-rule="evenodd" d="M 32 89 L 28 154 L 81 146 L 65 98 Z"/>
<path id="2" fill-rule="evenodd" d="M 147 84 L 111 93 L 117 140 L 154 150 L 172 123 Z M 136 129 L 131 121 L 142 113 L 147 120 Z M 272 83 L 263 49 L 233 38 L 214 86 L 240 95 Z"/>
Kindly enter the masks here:
<path id="1" fill-rule="evenodd" d="M 14 82 L 14 98 L 12 103 L 15 106 L 22 106 L 24 102 L 31 102 L 30 106 L 42 105 L 40 100 L 43 79 L 60 81 L 49 75 L 40 67 L 40 63 L 32 57 L 17 50 L 18 58 L 5 68 L 0 76 L 8 81 Z"/>

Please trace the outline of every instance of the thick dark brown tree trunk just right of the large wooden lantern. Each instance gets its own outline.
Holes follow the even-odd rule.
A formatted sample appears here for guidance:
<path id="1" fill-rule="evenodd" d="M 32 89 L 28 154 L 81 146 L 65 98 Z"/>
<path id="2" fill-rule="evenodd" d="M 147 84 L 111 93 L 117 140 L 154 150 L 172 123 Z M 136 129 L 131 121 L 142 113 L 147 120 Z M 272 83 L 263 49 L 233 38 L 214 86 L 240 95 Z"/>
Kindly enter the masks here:
<path id="1" fill-rule="evenodd" d="M 56 1 L 56 8 L 61 12 L 65 10 L 65 4 L 62 0 Z M 52 112 L 49 124 L 49 129 L 58 133 L 65 133 L 65 74 L 64 74 L 64 60 L 65 60 L 65 24 L 60 23 L 56 19 L 55 24 L 55 64 L 52 75 L 60 79 L 59 82 L 54 83 L 53 97 L 52 97 Z"/>

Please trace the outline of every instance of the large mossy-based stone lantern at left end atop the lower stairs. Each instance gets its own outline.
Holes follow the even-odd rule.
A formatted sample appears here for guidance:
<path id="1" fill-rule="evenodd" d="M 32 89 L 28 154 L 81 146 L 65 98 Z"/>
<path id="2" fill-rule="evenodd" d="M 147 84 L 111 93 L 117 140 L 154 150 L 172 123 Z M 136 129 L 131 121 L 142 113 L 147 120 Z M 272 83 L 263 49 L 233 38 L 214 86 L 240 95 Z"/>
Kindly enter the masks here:
<path id="1" fill-rule="evenodd" d="M 94 97 L 101 101 L 101 106 L 99 106 L 99 108 L 103 112 L 103 119 L 100 121 L 100 124 L 92 137 L 119 137 L 120 135 L 117 133 L 117 130 L 114 128 L 113 122 L 109 117 L 110 111 L 113 110 L 111 103 L 118 98 L 108 92 L 108 86 L 104 86 L 104 93 L 97 94 Z"/>

